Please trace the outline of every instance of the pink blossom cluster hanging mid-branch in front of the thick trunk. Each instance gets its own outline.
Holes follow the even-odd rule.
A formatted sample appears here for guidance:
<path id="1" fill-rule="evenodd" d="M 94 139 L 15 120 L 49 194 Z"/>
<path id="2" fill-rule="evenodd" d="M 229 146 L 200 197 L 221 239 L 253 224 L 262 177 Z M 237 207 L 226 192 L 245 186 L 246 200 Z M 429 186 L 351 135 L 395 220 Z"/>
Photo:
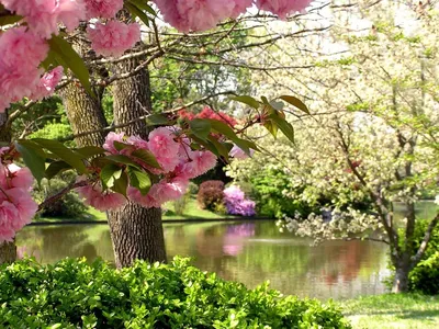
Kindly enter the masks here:
<path id="1" fill-rule="evenodd" d="M 123 143 L 130 147 L 115 146 L 115 141 Z M 151 131 L 148 139 L 138 136 L 126 137 L 124 134 L 110 133 L 106 136 L 103 148 L 112 155 L 124 155 L 157 178 L 158 182 L 153 184 L 149 192 L 143 195 L 139 190 L 128 186 L 128 200 L 145 207 L 160 207 L 165 202 L 181 197 L 189 184 L 189 180 L 201 175 L 215 167 L 216 157 L 209 150 L 192 150 L 191 140 L 177 127 L 159 127 Z M 120 150 L 117 150 L 120 149 Z M 151 168 L 139 158 L 133 157 L 135 150 L 147 150 L 157 159 L 160 166 Z M 102 192 L 102 186 L 97 183 L 78 189 L 87 203 L 98 209 L 114 209 L 124 204 L 123 196 L 116 197 L 112 192 Z"/>

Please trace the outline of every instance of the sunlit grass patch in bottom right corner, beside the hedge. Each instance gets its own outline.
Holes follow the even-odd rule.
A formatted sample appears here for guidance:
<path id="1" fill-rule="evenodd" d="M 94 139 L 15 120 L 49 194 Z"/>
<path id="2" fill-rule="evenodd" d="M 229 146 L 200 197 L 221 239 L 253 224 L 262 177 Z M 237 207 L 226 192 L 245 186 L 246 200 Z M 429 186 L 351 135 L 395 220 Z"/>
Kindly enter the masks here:
<path id="1" fill-rule="evenodd" d="M 439 328 L 439 296 L 387 294 L 340 304 L 354 329 Z"/>

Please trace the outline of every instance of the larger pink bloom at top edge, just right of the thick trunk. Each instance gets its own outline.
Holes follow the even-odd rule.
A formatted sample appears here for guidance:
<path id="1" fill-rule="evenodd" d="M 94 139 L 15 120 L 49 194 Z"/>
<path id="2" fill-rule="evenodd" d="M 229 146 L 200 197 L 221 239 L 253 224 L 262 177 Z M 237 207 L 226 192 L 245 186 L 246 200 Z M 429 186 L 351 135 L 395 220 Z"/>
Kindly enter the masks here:
<path id="1" fill-rule="evenodd" d="M 240 0 L 156 0 L 165 21 L 182 32 L 204 31 L 230 18 Z"/>

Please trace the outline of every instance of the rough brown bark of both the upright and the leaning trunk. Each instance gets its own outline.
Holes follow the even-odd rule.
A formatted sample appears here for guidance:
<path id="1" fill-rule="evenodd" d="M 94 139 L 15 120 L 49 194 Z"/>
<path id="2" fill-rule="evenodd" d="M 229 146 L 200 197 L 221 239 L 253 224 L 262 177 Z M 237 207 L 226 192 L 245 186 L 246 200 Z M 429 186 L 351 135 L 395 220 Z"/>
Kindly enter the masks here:
<path id="1" fill-rule="evenodd" d="M 120 69 L 130 69 L 124 65 Z M 102 92 L 101 92 L 102 93 Z M 101 106 L 100 94 L 91 98 L 80 86 L 70 83 L 61 91 L 63 102 L 74 134 L 102 129 L 106 121 Z M 150 89 L 148 72 L 119 81 L 114 86 L 114 122 L 124 123 L 144 115 L 144 109 L 150 109 Z M 123 129 L 128 135 L 147 135 L 145 123 L 137 123 Z M 77 137 L 78 146 L 104 143 L 106 133 L 88 134 Z M 165 238 L 161 225 L 161 211 L 146 209 L 128 203 L 125 207 L 109 212 L 110 232 L 117 268 L 128 266 L 135 259 L 166 261 Z"/>

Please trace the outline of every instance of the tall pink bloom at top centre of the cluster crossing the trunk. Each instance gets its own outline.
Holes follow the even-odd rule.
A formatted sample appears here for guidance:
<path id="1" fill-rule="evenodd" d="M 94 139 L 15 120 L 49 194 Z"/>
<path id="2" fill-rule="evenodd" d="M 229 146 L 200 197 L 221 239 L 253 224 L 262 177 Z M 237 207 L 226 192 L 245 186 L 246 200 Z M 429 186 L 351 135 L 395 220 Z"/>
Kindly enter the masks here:
<path id="1" fill-rule="evenodd" d="M 180 144 L 173 140 L 175 137 L 173 133 L 166 127 L 156 128 L 148 136 L 148 149 L 165 172 L 172 171 L 180 162 Z"/>

